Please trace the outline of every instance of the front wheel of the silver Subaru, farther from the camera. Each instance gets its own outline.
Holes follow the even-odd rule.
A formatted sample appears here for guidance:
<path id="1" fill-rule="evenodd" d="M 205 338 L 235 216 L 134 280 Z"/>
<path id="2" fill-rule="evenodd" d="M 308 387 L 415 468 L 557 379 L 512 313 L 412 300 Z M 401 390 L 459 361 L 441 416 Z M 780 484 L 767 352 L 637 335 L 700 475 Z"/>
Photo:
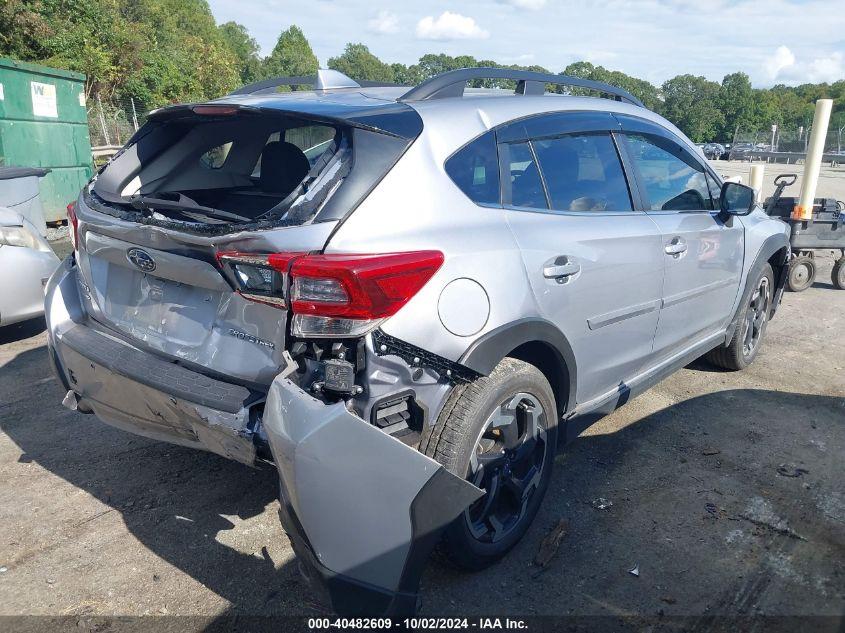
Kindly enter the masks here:
<path id="1" fill-rule="evenodd" d="M 745 369 L 754 362 L 762 347 L 775 296 L 774 273 L 769 264 L 763 266 L 753 288 L 745 299 L 731 342 L 707 353 L 707 360 L 718 367 L 732 371 Z"/>

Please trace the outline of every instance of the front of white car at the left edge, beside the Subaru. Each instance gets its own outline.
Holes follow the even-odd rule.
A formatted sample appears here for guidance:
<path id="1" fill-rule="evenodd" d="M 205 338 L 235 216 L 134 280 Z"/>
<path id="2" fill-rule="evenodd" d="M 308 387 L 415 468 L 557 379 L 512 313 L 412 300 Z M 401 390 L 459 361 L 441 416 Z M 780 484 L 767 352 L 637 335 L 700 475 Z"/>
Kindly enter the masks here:
<path id="1" fill-rule="evenodd" d="M 44 289 L 58 265 L 36 226 L 0 207 L 0 326 L 44 313 Z"/>

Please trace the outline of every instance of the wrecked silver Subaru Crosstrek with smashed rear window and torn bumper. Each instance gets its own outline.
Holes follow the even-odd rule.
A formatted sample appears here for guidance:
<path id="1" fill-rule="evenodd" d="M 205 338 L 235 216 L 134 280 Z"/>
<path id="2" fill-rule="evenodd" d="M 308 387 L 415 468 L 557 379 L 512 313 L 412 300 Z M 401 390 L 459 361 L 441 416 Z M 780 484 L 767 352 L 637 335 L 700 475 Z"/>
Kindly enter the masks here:
<path id="1" fill-rule="evenodd" d="M 339 613 L 413 612 L 433 547 L 479 569 L 525 534 L 559 441 L 699 356 L 751 363 L 789 256 L 629 93 L 490 68 L 154 111 L 70 222 L 65 405 L 274 464 Z"/>

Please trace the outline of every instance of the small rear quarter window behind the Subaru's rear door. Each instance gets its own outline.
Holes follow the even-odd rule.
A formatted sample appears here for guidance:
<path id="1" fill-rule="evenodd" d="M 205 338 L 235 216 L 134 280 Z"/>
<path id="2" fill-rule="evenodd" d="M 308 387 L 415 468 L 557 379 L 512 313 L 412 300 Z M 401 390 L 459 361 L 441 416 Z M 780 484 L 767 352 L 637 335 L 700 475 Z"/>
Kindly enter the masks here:
<path id="1" fill-rule="evenodd" d="M 470 200 L 499 204 L 499 159 L 496 137 L 488 132 L 458 150 L 446 161 L 446 173 Z"/>

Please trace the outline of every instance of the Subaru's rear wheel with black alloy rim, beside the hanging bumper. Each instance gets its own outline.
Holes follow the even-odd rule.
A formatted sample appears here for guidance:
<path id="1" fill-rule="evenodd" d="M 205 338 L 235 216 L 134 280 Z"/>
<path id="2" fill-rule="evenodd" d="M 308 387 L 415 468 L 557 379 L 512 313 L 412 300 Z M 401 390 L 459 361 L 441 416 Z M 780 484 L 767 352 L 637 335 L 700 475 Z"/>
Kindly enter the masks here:
<path id="1" fill-rule="evenodd" d="M 555 397 L 543 373 L 505 358 L 450 394 L 420 450 L 487 493 L 446 529 L 442 553 L 483 569 L 525 535 L 546 493 L 557 446 Z"/>

